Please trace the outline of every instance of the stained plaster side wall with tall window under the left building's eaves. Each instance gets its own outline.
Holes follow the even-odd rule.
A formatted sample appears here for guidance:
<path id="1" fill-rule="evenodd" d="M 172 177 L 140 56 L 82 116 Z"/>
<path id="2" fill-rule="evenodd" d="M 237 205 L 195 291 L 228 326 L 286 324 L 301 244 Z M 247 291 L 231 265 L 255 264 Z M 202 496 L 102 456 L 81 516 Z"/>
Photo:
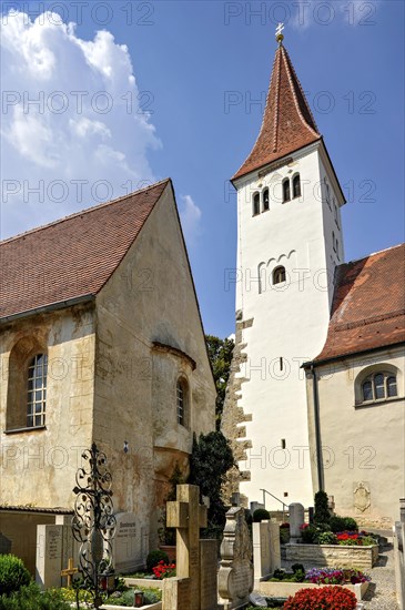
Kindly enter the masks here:
<path id="1" fill-rule="evenodd" d="M 19 342 L 27 346 L 27 357 L 21 350 L 20 360 L 13 364 L 14 374 L 20 367 L 24 374 L 38 345 L 48 348 L 45 429 L 6 434 L 8 406 L 22 408 L 22 414 L 27 409 L 27 385 L 9 384 L 10 353 Z M 93 358 L 93 313 L 89 306 L 27 317 L 1 328 L 1 504 L 72 506 L 80 456 L 91 443 Z"/>

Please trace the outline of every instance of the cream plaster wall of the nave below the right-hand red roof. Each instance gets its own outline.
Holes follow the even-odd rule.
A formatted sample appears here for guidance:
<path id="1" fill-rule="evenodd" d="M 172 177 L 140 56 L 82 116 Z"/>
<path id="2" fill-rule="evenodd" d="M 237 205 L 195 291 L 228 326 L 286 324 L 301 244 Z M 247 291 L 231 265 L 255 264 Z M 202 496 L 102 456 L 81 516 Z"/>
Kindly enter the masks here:
<path id="1" fill-rule="evenodd" d="M 357 376 L 366 368 L 398 370 L 398 396 L 357 405 Z M 392 348 L 347 358 L 316 368 L 325 490 L 334 496 L 335 511 L 368 521 L 394 521 L 398 499 L 405 492 L 405 388 L 404 350 Z M 317 489 L 313 380 L 307 376 L 310 444 L 313 484 Z M 354 506 L 354 490 L 363 482 L 371 506 Z"/>

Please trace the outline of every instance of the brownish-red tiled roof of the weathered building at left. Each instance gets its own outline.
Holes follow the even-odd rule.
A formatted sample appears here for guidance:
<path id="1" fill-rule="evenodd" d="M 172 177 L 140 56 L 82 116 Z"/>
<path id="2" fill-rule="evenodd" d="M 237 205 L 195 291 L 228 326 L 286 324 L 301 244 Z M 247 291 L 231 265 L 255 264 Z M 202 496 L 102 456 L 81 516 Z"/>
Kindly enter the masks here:
<path id="1" fill-rule="evenodd" d="M 0 242 L 0 318 L 95 295 L 169 180 Z"/>

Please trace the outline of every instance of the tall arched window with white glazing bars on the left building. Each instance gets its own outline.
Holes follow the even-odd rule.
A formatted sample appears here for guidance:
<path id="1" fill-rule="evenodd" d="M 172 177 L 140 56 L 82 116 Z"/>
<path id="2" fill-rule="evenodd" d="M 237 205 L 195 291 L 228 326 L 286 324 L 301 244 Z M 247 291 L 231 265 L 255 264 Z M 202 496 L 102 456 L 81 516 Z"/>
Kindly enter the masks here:
<path id="1" fill-rule="evenodd" d="M 45 425 L 48 356 L 37 354 L 28 366 L 27 427 Z"/>

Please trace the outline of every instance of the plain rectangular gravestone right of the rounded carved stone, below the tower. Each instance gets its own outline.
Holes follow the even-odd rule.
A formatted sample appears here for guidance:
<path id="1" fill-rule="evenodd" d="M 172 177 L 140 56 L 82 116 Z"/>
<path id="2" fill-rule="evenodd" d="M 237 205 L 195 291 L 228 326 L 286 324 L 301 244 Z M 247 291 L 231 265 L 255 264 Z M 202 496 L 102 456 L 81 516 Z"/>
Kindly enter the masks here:
<path id="1" fill-rule="evenodd" d="M 273 521 L 252 523 L 255 582 L 281 567 L 280 526 Z"/>

